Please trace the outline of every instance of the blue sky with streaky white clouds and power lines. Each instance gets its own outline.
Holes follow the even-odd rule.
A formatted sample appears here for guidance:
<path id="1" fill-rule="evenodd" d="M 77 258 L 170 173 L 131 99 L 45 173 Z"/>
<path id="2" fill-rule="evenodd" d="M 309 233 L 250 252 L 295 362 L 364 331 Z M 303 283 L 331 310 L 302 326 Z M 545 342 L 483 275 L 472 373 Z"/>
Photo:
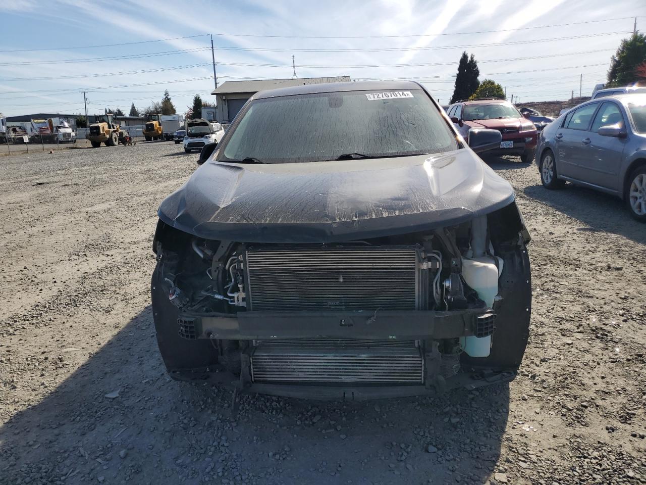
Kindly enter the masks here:
<path id="1" fill-rule="evenodd" d="M 151 8 L 154 6 L 154 8 Z M 0 113 L 128 113 L 167 89 L 178 113 L 227 80 L 418 80 L 441 103 L 463 50 L 518 102 L 590 95 L 646 2 L 74 0 L 0 2 Z M 121 44 L 121 45 L 116 45 Z"/>

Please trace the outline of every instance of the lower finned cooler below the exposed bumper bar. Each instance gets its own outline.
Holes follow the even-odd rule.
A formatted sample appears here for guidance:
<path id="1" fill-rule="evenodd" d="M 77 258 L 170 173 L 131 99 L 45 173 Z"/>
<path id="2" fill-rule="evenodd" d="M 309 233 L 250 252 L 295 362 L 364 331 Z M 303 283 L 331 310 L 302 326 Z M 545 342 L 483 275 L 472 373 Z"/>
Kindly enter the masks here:
<path id="1" fill-rule="evenodd" d="M 424 382 L 417 342 L 366 339 L 256 340 L 254 382 L 413 385 Z"/>

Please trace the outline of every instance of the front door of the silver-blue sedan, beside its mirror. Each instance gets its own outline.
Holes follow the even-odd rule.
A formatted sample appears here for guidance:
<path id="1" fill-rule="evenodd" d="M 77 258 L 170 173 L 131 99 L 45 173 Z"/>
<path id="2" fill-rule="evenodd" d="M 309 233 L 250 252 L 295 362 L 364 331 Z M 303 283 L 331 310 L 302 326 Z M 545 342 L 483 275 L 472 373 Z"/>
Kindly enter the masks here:
<path id="1" fill-rule="evenodd" d="M 626 127 L 625 116 L 620 105 L 605 101 L 594 115 L 592 126 L 586 133 L 589 144 L 583 149 L 585 156 L 581 158 L 579 180 L 599 187 L 619 191 L 619 172 L 626 138 L 616 136 L 601 136 L 598 131 L 602 126 L 616 125 Z"/>

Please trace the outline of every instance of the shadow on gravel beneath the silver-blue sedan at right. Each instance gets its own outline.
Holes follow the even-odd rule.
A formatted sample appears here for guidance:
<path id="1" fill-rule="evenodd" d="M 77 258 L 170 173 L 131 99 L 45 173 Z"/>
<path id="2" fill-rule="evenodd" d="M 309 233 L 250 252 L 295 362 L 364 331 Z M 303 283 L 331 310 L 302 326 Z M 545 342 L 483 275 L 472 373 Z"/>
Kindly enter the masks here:
<path id="1" fill-rule="evenodd" d="M 578 230 L 612 232 L 646 244 L 646 226 L 632 219 L 625 202 L 616 197 L 573 184 L 561 190 L 537 184 L 526 187 L 524 193 L 589 226 Z"/>

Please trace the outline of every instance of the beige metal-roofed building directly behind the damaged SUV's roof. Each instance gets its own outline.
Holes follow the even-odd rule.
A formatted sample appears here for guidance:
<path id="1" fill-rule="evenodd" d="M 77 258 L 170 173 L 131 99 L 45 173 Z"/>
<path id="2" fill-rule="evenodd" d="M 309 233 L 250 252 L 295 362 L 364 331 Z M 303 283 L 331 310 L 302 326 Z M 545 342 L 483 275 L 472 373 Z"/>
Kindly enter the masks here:
<path id="1" fill-rule="evenodd" d="M 279 87 L 294 87 L 304 84 L 344 83 L 350 81 L 350 76 L 333 76 L 331 78 L 300 78 L 300 79 L 264 79 L 256 81 L 226 81 L 211 94 L 215 95 L 216 120 L 230 123 L 244 103 L 258 91 L 278 89 Z"/>

